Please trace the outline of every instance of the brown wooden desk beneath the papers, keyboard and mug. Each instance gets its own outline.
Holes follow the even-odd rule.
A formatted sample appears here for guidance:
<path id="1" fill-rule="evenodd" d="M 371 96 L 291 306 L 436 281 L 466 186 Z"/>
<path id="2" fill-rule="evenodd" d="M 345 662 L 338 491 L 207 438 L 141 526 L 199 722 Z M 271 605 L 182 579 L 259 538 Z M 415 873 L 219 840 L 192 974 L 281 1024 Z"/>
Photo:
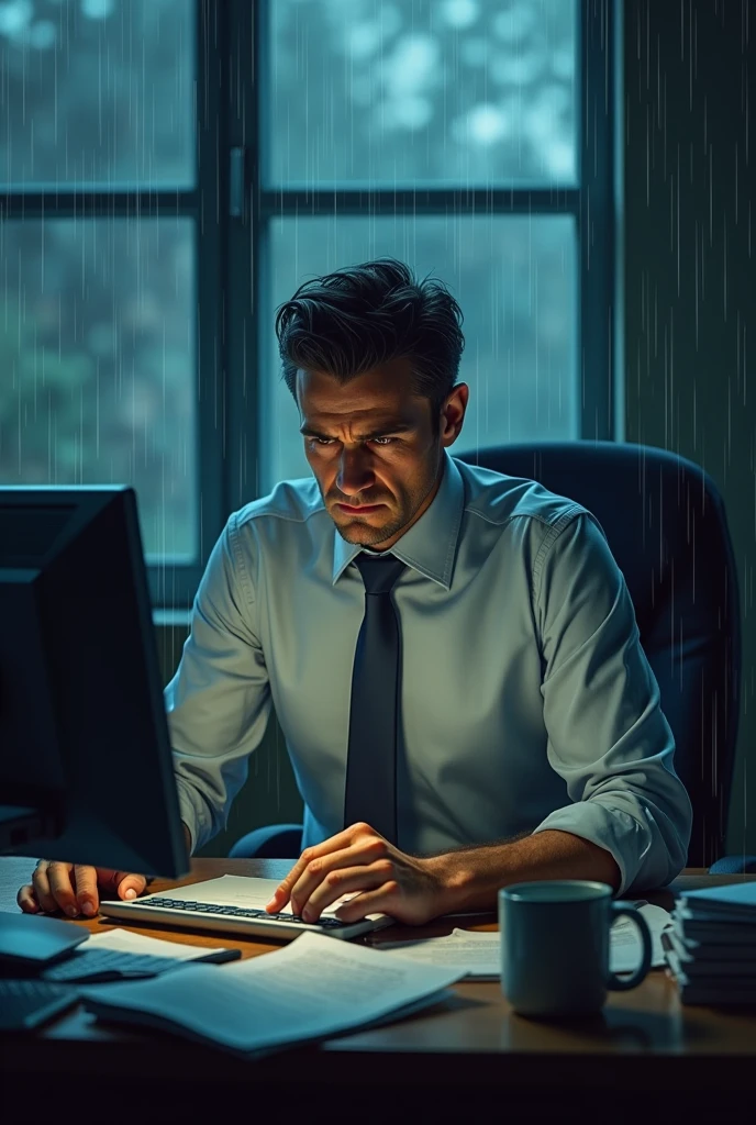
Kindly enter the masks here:
<path id="1" fill-rule="evenodd" d="M 0 909 L 17 909 L 16 892 L 28 881 L 33 866 L 32 860 L 0 858 Z M 191 875 L 180 882 L 224 873 L 280 879 L 289 867 L 278 860 L 195 860 Z M 711 876 L 690 870 L 668 889 L 647 898 L 669 909 L 681 890 L 744 879 L 756 875 Z M 174 885 L 179 884 L 155 881 L 152 890 Z M 469 927 L 469 918 L 457 919 L 461 926 Z M 476 922 L 469 928 L 496 928 L 493 916 Z M 101 932 L 109 924 L 94 919 L 71 925 Z M 399 932 L 430 936 L 449 933 L 453 925 L 449 919 Z M 381 936 L 396 937 L 397 929 Z M 234 946 L 244 957 L 279 947 L 154 926 L 141 933 Z M 325 1116 L 327 1106 L 331 1117 L 340 1105 L 349 1117 L 362 1120 L 372 1119 L 374 1112 L 385 1120 L 392 1106 L 421 1115 L 420 1119 L 432 1113 L 434 1120 L 458 1119 L 462 1110 L 486 1108 L 506 1109 L 508 1117 L 516 1107 L 526 1108 L 530 1120 L 555 1113 L 568 1120 L 583 1114 L 592 1119 L 601 1104 L 611 1114 L 612 1125 L 626 1119 L 623 1114 L 636 1123 L 657 1115 L 662 1119 L 669 1112 L 677 1117 L 686 1105 L 698 1110 L 692 1118 L 696 1119 L 709 1108 L 719 1117 L 728 1108 L 741 1107 L 737 1099 L 744 1095 L 750 1095 L 753 1112 L 756 1014 L 683 1007 L 674 982 L 662 970 L 654 970 L 630 992 L 610 993 L 601 1016 L 561 1025 L 514 1015 L 498 983 L 464 983 L 453 991 L 453 1000 L 394 1025 L 254 1062 L 160 1033 L 106 1027 L 79 1008 L 36 1036 L 0 1041 L 0 1091 L 7 1092 L 11 1083 L 32 1091 L 42 1083 L 45 1089 L 69 1091 L 72 1110 L 107 1107 L 110 1119 L 118 1114 L 118 1105 L 124 1106 L 124 1119 L 127 1114 L 133 1118 L 134 1104 L 130 1109 L 125 1105 L 126 1092 L 132 1091 L 142 1120 L 152 1119 L 145 1114 L 154 1110 L 158 1115 L 158 1109 L 161 1119 L 168 1109 L 176 1119 L 183 1109 L 191 1110 L 187 1120 L 194 1120 L 200 1109 L 214 1108 L 217 1115 L 227 1098 L 233 1105 L 243 1098 L 249 1113 L 254 1106 L 280 1105 L 284 1117 L 287 1106 L 308 1116 L 318 1106 Z M 86 1089 L 92 1090 L 91 1100 L 78 1106 L 79 1091 Z M 124 1097 L 114 1099 L 114 1090 Z M 0 1108 L 2 1097 L 0 1092 Z M 638 1099 L 642 1099 L 640 1109 Z"/>

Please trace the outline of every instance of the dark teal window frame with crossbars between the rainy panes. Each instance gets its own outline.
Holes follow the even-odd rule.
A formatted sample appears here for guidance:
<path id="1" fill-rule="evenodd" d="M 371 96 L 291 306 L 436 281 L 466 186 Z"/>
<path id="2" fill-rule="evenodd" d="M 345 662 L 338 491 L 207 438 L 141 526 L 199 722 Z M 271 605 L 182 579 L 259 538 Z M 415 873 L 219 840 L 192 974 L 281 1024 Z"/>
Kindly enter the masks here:
<path id="1" fill-rule="evenodd" d="M 0 220 L 182 217 L 194 220 L 198 560 L 148 562 L 156 619 L 186 613 L 231 512 L 259 496 L 259 426 L 268 366 L 262 322 L 271 218 L 306 214 L 572 215 L 576 222 L 578 310 L 577 440 L 614 440 L 616 346 L 621 338 L 615 232 L 619 119 L 619 0 L 577 0 L 578 186 L 576 188 L 403 190 L 267 188 L 267 18 L 272 0 L 195 0 L 196 184 L 189 190 L 0 189 Z M 609 298 L 608 298 L 608 295 Z M 596 316 L 596 309 L 602 316 Z"/>

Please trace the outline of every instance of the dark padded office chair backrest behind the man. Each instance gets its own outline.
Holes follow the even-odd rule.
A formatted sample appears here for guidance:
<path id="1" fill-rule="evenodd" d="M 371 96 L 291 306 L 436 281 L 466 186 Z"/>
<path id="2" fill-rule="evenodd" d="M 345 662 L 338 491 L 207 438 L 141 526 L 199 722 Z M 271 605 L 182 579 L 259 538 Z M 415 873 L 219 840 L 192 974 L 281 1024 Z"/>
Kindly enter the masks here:
<path id="1" fill-rule="evenodd" d="M 688 866 L 724 854 L 740 716 L 740 610 L 724 505 L 693 461 L 651 446 L 542 442 L 453 453 L 538 480 L 596 516 L 632 597 L 640 640 L 693 806 Z"/>

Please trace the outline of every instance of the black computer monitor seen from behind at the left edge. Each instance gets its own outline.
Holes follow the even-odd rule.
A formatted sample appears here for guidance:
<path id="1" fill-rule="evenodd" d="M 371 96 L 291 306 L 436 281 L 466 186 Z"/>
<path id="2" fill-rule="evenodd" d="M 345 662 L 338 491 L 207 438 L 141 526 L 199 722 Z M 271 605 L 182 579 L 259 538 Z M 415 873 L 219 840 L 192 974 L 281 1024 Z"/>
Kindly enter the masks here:
<path id="1" fill-rule="evenodd" d="M 189 870 L 128 486 L 0 488 L 0 853 Z"/>

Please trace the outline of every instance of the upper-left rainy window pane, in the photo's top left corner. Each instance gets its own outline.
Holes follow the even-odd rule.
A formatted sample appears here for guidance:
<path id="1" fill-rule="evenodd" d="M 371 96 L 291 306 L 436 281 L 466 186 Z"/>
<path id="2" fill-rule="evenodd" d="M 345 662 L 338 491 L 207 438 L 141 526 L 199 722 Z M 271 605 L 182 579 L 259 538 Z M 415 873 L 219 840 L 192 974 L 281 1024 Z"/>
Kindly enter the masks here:
<path id="1" fill-rule="evenodd" d="M 0 183 L 192 187 L 195 0 L 3 0 Z"/>

